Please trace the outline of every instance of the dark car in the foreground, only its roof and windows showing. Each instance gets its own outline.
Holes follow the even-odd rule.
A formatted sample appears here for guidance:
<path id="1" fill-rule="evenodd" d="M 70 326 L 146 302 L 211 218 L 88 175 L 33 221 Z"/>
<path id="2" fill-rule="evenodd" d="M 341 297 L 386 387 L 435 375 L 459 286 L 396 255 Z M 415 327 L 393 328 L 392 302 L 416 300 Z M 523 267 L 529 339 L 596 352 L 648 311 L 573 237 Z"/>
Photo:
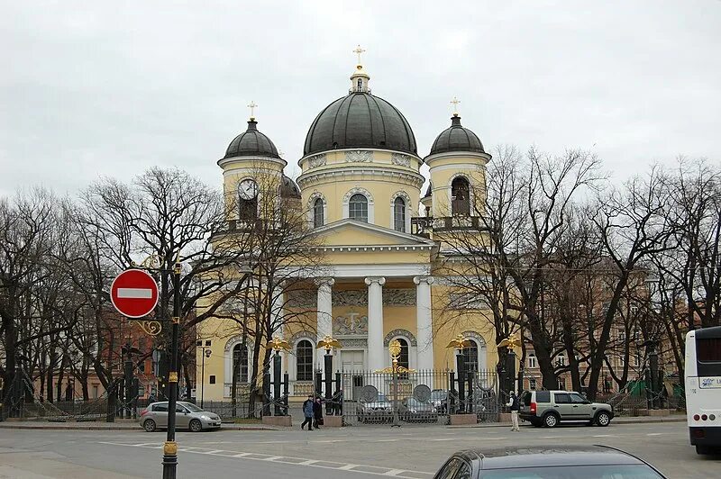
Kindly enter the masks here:
<path id="1" fill-rule="evenodd" d="M 636 456 L 606 446 L 506 447 L 455 453 L 434 479 L 665 479 Z"/>

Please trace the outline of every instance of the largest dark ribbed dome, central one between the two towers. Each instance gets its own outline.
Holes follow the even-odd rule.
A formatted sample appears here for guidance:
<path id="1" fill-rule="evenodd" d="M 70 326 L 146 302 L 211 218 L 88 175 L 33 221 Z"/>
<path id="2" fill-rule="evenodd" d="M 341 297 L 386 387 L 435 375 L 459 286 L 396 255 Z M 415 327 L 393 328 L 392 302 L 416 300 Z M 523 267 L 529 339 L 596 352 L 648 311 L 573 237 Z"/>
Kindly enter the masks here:
<path id="1" fill-rule="evenodd" d="M 393 149 L 417 154 L 406 117 L 379 96 L 355 92 L 329 104 L 306 136 L 305 155 L 343 148 Z"/>

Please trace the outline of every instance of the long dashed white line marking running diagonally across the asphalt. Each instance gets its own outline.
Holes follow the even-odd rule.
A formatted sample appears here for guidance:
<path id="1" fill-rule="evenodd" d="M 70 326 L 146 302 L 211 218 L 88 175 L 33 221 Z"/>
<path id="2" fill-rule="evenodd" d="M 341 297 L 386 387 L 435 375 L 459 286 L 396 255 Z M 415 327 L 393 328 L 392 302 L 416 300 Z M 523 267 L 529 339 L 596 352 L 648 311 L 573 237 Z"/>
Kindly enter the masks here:
<path id="1" fill-rule="evenodd" d="M 392 441 L 397 441 L 398 439 L 390 439 Z M 390 440 L 385 441 L 379 441 L 379 442 L 389 442 Z M 159 445 L 159 443 L 150 443 L 150 442 L 144 442 L 141 444 L 127 444 L 122 442 L 105 442 L 105 441 L 98 441 L 99 444 L 107 444 L 111 446 L 124 446 L 124 447 L 144 447 L 148 449 L 158 449 L 162 448 L 162 444 Z M 196 449 L 196 450 L 188 450 L 188 449 Z M 306 459 L 303 457 L 293 457 L 293 456 L 270 456 L 268 454 L 260 454 L 256 452 L 241 452 L 241 451 L 228 451 L 223 449 L 207 449 L 203 447 L 184 447 L 183 450 L 189 454 L 203 454 L 207 456 L 220 456 L 220 457 L 227 457 L 229 459 L 231 458 L 238 458 L 238 459 L 244 459 L 248 461 L 263 461 L 263 462 L 276 462 L 278 464 L 283 465 L 306 465 L 309 467 L 322 467 L 324 469 L 335 469 L 338 471 L 351 471 L 353 473 L 359 473 L 359 474 L 370 474 L 370 475 L 382 475 L 382 476 L 390 476 L 390 477 L 403 477 L 406 479 L 415 479 L 418 477 L 418 475 L 427 475 L 429 477 L 433 476 L 434 473 L 426 473 L 424 471 L 411 471 L 409 469 L 394 469 L 392 467 L 387 466 L 379 466 L 379 465 L 361 465 L 361 464 L 343 464 L 343 463 L 337 463 L 337 462 L 329 462 L 324 461 L 322 459 Z M 289 462 L 288 459 L 296 460 L 298 462 Z"/>

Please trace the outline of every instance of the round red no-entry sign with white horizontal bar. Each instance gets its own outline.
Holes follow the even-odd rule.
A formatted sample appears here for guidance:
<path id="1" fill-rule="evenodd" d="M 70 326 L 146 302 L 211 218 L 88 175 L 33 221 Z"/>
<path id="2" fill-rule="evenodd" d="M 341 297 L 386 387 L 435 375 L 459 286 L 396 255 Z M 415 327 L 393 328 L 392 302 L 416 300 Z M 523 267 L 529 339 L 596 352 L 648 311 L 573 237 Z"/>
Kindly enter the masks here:
<path id="1" fill-rule="evenodd" d="M 126 269 L 110 286 L 110 301 L 128 318 L 142 318 L 158 304 L 158 284 L 141 269 Z"/>

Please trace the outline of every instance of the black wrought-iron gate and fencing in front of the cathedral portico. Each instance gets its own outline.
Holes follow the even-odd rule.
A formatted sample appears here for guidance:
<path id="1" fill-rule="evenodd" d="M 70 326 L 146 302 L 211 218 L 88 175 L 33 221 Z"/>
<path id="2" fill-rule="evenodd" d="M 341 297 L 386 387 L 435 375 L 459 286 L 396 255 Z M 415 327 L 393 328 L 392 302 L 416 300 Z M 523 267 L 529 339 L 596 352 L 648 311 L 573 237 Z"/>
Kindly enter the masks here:
<path id="1" fill-rule="evenodd" d="M 449 414 L 498 420 L 497 373 L 473 371 L 459 381 L 453 371 L 344 371 L 342 415 L 346 425 L 446 424 Z"/>

